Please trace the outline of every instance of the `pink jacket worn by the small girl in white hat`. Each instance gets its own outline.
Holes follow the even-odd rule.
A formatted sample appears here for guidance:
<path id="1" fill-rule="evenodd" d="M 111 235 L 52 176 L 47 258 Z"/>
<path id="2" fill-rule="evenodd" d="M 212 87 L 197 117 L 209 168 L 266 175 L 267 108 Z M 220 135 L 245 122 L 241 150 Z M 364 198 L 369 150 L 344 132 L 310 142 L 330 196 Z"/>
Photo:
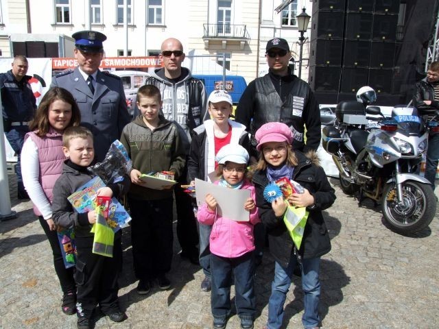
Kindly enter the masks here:
<path id="1" fill-rule="evenodd" d="M 250 197 L 254 200 L 254 186 L 248 180 L 244 180 L 241 188 L 250 190 Z M 256 206 L 250 212 L 250 221 L 234 221 L 209 210 L 204 202 L 198 209 L 197 218 L 202 224 L 213 225 L 210 238 L 212 254 L 235 258 L 254 250 L 253 226 L 260 222 Z"/>

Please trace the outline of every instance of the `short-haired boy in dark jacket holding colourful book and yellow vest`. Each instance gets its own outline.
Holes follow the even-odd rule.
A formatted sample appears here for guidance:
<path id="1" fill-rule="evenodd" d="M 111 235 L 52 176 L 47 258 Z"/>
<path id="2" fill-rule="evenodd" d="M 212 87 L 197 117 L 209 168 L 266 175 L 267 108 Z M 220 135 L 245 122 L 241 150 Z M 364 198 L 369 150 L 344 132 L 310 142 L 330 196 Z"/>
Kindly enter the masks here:
<path id="1" fill-rule="evenodd" d="M 78 328 L 93 328 L 93 310 L 99 304 L 112 321 L 121 322 L 126 314 L 119 308 L 117 279 L 122 264 L 121 230 L 116 232 L 112 257 L 93 254 L 95 210 L 78 213 L 68 197 L 95 177 L 87 167 L 93 161 L 93 134 L 84 127 L 69 127 L 62 136 L 67 160 L 54 186 L 53 219 L 57 226 L 74 228 L 77 254 L 75 281 L 78 287 L 76 314 Z M 119 197 L 130 186 L 128 175 L 115 184 L 99 188 L 97 195 Z"/>

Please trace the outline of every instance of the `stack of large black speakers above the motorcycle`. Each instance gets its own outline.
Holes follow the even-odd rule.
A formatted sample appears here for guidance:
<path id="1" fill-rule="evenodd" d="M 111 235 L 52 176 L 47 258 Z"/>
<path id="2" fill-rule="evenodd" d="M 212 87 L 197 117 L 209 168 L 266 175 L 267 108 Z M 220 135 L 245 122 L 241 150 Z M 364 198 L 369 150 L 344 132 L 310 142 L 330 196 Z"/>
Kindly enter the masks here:
<path id="1" fill-rule="evenodd" d="M 439 1 L 313 0 L 309 83 L 319 103 L 355 100 L 361 86 L 377 91 L 377 105 L 412 99 Z"/>

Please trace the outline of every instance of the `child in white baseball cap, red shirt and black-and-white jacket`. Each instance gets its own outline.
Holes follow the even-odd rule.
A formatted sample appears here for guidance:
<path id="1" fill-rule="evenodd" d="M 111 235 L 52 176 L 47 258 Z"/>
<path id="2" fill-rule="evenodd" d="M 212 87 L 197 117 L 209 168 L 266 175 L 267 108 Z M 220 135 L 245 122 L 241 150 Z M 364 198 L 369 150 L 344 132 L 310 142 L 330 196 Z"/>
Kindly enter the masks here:
<path id="1" fill-rule="evenodd" d="M 212 119 L 193 130 L 191 151 L 187 160 L 189 182 L 195 185 L 195 178 L 211 182 L 209 174 L 217 167 L 215 156 L 219 149 L 227 144 L 243 145 L 249 148 L 246 126 L 230 120 L 233 109 L 232 97 L 226 90 L 213 90 L 209 95 L 208 110 Z M 209 236 L 212 227 L 199 225 L 200 232 L 200 265 L 204 272 L 201 282 L 202 291 L 211 291 L 211 252 Z"/>

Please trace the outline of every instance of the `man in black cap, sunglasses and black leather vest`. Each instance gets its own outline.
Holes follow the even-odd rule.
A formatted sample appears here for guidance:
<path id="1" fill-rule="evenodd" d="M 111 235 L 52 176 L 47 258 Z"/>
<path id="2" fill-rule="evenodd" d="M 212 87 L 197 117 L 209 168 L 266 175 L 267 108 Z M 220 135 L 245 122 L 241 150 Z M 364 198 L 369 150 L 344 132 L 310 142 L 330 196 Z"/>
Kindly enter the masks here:
<path id="1" fill-rule="evenodd" d="M 294 149 L 316 151 L 321 138 L 320 110 L 311 88 L 289 69 L 287 40 L 273 38 L 265 49 L 269 72 L 248 84 L 235 113 L 235 120 L 246 125 L 251 134 L 250 155 L 257 158 L 254 132 L 268 122 L 289 126 L 294 134 Z"/>

